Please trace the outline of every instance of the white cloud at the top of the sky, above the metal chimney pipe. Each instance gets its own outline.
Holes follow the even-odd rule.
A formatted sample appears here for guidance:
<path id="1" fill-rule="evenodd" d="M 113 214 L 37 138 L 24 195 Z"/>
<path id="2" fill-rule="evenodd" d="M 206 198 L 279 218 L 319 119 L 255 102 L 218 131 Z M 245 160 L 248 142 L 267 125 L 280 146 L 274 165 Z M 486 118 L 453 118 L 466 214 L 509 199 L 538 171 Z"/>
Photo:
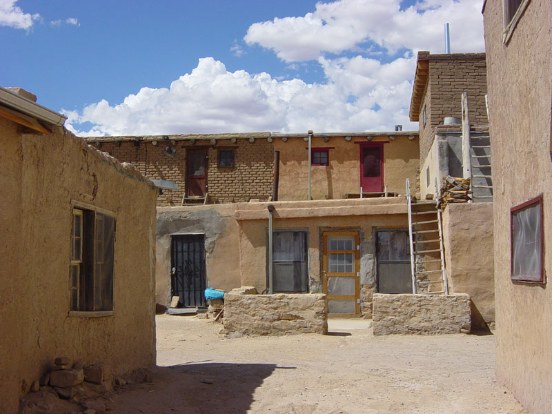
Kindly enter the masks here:
<path id="1" fill-rule="evenodd" d="M 484 50 L 481 0 L 424 0 L 400 10 L 399 0 L 317 3 L 304 17 L 254 23 L 244 40 L 274 50 L 284 61 L 317 59 L 373 42 L 391 54 L 444 49 L 444 23 L 451 23 L 453 52 Z"/>

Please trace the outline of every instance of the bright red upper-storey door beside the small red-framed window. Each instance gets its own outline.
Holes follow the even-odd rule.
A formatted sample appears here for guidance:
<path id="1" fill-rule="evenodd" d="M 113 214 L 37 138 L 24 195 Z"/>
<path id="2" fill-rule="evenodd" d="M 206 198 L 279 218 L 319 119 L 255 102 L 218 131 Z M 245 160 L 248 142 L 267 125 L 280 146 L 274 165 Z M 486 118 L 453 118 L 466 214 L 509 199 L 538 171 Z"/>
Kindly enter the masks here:
<path id="1" fill-rule="evenodd" d="M 384 144 L 367 142 L 360 146 L 360 186 L 362 193 L 384 190 Z"/>

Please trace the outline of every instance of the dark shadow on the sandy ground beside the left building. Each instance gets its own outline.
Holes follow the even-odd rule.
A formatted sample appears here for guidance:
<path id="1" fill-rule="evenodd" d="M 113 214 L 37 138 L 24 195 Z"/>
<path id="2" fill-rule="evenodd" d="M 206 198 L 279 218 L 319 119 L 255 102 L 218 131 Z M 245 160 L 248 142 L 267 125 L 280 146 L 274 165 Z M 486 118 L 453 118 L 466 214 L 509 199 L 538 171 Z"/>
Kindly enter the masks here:
<path id="1" fill-rule="evenodd" d="M 246 413 L 275 364 L 188 363 L 158 366 L 153 383 L 114 397 L 115 413 Z M 144 392 L 146 388 L 146 393 Z"/>

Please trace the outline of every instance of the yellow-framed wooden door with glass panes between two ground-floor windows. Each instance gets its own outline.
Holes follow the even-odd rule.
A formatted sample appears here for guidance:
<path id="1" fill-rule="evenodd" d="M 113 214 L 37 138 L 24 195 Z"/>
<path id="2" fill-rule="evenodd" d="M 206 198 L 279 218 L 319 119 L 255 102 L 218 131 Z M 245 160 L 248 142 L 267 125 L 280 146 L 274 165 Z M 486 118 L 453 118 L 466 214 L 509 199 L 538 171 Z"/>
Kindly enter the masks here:
<path id="1" fill-rule="evenodd" d="M 360 314 L 359 234 L 357 231 L 323 233 L 322 291 L 328 313 Z"/>

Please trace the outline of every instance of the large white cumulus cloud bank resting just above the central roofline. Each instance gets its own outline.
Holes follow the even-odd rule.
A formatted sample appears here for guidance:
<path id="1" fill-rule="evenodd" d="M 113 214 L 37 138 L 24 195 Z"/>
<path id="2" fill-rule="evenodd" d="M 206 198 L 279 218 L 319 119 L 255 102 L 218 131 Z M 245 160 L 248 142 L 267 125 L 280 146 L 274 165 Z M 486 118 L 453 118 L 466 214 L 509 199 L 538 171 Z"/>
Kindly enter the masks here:
<path id="1" fill-rule="evenodd" d="M 141 88 L 116 105 L 102 100 L 81 113 L 63 113 L 66 126 L 81 136 L 385 130 L 405 123 L 412 86 L 404 76 L 413 72 L 414 59 L 382 65 L 356 57 L 321 59 L 320 64 L 327 83 L 228 72 L 208 57 L 170 88 Z M 81 126 L 85 122 L 93 127 L 86 130 Z"/>

